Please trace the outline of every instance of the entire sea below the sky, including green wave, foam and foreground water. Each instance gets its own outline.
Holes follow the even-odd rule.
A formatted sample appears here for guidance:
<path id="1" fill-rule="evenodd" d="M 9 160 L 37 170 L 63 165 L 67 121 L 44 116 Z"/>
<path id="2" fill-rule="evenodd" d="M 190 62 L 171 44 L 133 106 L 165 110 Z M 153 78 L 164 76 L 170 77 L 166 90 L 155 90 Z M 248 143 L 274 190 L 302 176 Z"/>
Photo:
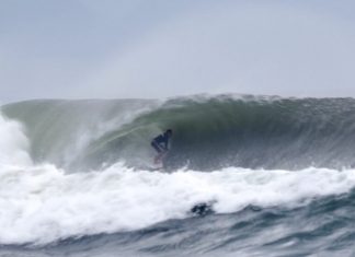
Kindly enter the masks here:
<path id="1" fill-rule="evenodd" d="M 0 257 L 343 257 L 354 242 L 353 98 L 1 106 Z"/>

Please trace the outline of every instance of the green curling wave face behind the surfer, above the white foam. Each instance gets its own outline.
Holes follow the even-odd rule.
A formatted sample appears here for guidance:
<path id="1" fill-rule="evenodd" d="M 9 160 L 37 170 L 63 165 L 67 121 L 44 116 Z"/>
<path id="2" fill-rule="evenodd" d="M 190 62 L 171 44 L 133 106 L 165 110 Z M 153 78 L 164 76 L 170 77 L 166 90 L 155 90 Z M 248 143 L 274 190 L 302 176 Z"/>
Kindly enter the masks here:
<path id="1" fill-rule="evenodd" d="M 149 141 L 174 136 L 165 166 L 299 170 L 354 164 L 355 101 L 196 96 L 156 101 L 35 101 L 4 106 L 27 129 L 34 161 L 92 167 L 150 163 Z"/>

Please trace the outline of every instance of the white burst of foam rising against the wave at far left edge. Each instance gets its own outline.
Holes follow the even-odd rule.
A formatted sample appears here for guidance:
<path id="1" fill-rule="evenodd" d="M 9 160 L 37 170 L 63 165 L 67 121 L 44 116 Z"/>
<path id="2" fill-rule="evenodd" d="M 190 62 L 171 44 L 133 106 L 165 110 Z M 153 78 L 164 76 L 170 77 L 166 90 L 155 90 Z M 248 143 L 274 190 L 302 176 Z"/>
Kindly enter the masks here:
<path id="1" fill-rule="evenodd" d="M 28 140 L 23 127 L 0 113 L 0 165 L 30 165 Z"/>

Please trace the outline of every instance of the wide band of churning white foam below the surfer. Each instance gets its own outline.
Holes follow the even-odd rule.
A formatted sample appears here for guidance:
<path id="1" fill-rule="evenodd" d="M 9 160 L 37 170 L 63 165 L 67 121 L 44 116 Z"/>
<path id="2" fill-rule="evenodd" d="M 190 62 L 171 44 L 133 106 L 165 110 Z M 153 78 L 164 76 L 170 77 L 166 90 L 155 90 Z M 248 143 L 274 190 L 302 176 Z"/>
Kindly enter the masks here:
<path id="1" fill-rule="evenodd" d="M 347 192 L 354 185 L 353 170 L 230 167 L 164 174 L 116 164 L 103 172 L 66 174 L 53 165 L 8 167 L 0 171 L 0 243 L 47 244 L 142 229 L 186 218 L 194 205 L 207 201 L 215 202 L 217 213 L 249 205 L 294 207 Z"/>

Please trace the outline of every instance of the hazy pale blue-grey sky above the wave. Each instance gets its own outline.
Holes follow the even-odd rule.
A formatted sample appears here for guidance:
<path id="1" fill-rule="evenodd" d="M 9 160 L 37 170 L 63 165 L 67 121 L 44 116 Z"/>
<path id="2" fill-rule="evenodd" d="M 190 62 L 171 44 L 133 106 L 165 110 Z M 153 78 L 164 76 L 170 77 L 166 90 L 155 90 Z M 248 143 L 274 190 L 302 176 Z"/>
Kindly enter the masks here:
<path id="1" fill-rule="evenodd" d="M 0 0 L 0 103 L 355 96 L 354 0 Z"/>

